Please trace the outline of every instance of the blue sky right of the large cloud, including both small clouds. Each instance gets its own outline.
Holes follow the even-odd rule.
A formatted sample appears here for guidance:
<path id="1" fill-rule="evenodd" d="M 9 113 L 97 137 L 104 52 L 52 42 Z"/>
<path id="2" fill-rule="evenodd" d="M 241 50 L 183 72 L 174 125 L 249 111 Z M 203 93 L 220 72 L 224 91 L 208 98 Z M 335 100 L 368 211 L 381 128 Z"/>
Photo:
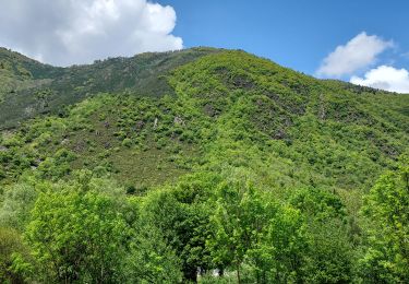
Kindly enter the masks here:
<path id="1" fill-rule="evenodd" d="M 161 3 L 176 10 L 173 34 L 183 38 L 184 47 L 244 49 L 318 78 L 409 93 L 409 1 L 163 0 Z M 337 47 L 349 51 L 333 55 L 323 68 L 325 58 Z M 360 54 L 368 58 L 356 58 Z M 349 64 L 349 70 L 339 66 L 342 62 Z"/>

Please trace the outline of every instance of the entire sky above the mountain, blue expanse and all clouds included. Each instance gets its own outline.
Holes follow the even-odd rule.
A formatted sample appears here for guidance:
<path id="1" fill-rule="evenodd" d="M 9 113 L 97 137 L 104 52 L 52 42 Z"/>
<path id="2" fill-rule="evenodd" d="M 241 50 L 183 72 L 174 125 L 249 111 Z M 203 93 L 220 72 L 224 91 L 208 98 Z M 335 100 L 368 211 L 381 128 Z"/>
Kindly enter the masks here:
<path id="1" fill-rule="evenodd" d="M 407 0 L 0 0 L 0 46 L 70 66 L 195 46 L 409 93 Z"/>

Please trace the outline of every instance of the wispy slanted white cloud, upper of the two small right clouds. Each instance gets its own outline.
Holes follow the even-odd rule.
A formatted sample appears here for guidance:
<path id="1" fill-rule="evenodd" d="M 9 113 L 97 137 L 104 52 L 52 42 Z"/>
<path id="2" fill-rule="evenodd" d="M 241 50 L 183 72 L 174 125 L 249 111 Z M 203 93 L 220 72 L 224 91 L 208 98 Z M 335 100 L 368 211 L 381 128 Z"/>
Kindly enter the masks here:
<path id="1" fill-rule="evenodd" d="M 386 42 L 376 35 L 360 33 L 346 45 L 337 46 L 322 62 L 316 71 L 318 76 L 336 76 L 352 74 L 376 61 L 376 56 L 393 47 L 393 42 Z"/>

